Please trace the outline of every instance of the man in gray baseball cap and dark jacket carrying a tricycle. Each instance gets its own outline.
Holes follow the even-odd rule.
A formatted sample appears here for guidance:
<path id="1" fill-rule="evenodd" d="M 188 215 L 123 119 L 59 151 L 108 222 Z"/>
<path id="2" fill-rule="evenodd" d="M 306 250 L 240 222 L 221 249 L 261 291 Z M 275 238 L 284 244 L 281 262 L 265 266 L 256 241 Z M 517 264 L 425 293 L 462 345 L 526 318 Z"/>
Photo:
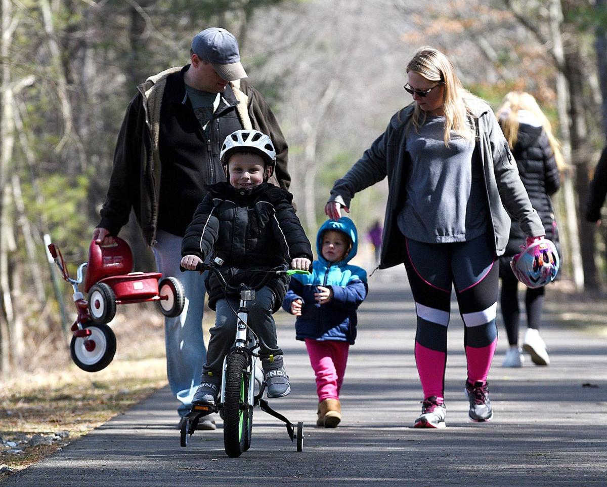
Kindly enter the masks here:
<path id="1" fill-rule="evenodd" d="M 239 129 L 270 135 L 276 170 L 270 182 L 288 189 L 287 143 L 268 104 L 245 79 L 236 38 L 211 27 L 192 39 L 190 64 L 151 76 L 137 87 L 127 107 L 114 154 L 106 202 L 93 238 L 113 243 L 131 209 L 158 271 L 176 276 L 186 305 L 177 318 L 165 318 L 169 386 L 181 418 L 206 361 L 202 333 L 205 274 L 181 274 L 181 239 L 206 194 L 205 185 L 225 180 L 219 154 L 225 137 Z M 209 417 L 206 417 L 209 418 Z M 215 429 L 210 419 L 200 429 Z"/>

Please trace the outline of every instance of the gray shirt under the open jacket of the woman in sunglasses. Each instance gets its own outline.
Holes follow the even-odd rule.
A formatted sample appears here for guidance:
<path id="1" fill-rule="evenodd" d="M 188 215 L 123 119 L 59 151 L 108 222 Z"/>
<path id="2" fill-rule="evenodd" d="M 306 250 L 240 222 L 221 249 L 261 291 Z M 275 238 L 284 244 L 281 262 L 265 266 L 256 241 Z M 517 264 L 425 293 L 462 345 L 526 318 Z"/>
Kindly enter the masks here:
<path id="1" fill-rule="evenodd" d="M 475 141 L 452 131 L 443 140 L 445 117 L 427 117 L 416 133 L 407 131 L 411 157 L 404 208 L 398 227 L 405 237 L 426 243 L 472 240 L 487 231 L 487 197 Z"/>

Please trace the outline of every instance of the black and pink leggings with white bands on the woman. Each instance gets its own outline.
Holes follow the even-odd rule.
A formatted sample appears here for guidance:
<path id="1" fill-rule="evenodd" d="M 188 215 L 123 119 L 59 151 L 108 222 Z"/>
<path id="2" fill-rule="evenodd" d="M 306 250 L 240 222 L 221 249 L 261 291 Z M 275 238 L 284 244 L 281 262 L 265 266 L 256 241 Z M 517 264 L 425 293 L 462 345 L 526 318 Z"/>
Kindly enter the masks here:
<path id="1" fill-rule="evenodd" d="M 444 394 L 452 286 L 465 325 L 468 380 L 486 382 L 497 344 L 499 279 L 487 237 L 457 243 L 406 242 L 405 267 L 417 313 L 415 361 L 424 398 Z"/>

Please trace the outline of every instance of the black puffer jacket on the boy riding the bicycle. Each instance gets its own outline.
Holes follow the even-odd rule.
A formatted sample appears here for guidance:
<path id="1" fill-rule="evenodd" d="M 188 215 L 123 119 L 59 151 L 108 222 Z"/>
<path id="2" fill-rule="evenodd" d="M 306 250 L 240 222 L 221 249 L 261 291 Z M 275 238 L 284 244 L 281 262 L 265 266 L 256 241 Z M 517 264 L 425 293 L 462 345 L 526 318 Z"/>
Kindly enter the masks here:
<path id="1" fill-rule="evenodd" d="M 313 259 L 310 241 L 291 201 L 293 195 L 270 183 L 252 189 L 236 189 L 227 182 L 206 186 L 208 194 L 198 205 L 181 243 L 181 255 L 223 259 L 226 281 L 241 273 L 239 282 L 256 285 L 263 274 L 246 270 L 267 269 L 291 263 L 296 257 Z M 234 285 L 235 280 L 229 284 Z M 270 280 L 276 312 L 287 292 L 285 276 Z M 223 298 L 223 287 L 214 274 L 206 280 L 209 307 Z"/>

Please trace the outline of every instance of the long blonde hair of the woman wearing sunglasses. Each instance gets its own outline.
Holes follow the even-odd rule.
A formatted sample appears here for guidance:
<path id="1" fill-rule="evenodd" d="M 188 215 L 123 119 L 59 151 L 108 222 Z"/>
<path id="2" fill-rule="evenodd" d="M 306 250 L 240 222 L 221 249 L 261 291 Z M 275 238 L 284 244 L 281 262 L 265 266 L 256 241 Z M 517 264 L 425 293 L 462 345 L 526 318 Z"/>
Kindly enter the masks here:
<path id="1" fill-rule="evenodd" d="M 474 128 L 470 125 L 466 98 L 475 98 L 468 90 L 464 89 L 455 73 L 451 61 L 437 49 L 423 46 L 418 49 L 412 60 L 407 64 L 407 73 L 410 71 L 418 73 L 428 81 L 443 83 L 443 111 L 445 113 L 445 131 L 443 140 L 449 146 L 451 140 L 450 132 L 453 130 L 459 136 L 472 140 L 475 135 Z M 415 131 L 426 122 L 426 112 L 419 108 L 416 103 L 410 123 L 415 126 Z"/>

